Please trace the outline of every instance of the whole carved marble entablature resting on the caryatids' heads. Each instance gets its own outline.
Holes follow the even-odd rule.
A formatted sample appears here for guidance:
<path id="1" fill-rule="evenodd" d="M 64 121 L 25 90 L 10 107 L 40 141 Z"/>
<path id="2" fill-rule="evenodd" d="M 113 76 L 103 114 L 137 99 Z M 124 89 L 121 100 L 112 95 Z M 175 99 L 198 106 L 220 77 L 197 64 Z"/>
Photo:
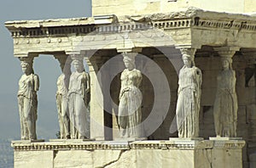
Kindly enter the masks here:
<path id="1" fill-rule="evenodd" d="M 6 22 L 15 55 L 73 50 L 191 46 L 255 48 L 256 17 L 189 8 L 170 14 Z"/>

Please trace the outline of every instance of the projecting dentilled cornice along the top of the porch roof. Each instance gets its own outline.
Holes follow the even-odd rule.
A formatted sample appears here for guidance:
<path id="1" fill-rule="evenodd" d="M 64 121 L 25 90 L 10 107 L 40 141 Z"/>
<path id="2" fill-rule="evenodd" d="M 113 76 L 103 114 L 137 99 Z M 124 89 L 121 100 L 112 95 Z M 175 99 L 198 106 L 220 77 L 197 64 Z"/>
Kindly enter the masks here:
<path id="1" fill-rule="evenodd" d="M 221 19 L 221 20 L 220 20 Z M 103 25 L 103 26 L 102 26 Z M 167 30 L 206 29 L 256 31 L 256 17 L 245 14 L 227 14 L 188 8 L 186 11 L 139 16 L 94 16 L 59 20 L 8 21 L 5 26 L 12 36 L 20 38 L 50 36 L 83 36 L 92 33 L 143 31 L 153 28 Z"/>

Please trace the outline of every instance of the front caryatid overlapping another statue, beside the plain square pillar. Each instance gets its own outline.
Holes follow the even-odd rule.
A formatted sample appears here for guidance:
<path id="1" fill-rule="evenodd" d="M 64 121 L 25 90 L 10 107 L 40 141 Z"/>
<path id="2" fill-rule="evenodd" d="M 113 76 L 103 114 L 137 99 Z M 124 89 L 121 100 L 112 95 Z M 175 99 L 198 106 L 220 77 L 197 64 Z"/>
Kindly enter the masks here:
<path id="1" fill-rule="evenodd" d="M 70 76 L 68 87 L 68 106 L 71 121 L 71 138 L 84 139 L 88 136 L 88 104 L 90 94 L 90 76 L 84 71 L 82 58 L 73 59 L 75 71 Z"/>

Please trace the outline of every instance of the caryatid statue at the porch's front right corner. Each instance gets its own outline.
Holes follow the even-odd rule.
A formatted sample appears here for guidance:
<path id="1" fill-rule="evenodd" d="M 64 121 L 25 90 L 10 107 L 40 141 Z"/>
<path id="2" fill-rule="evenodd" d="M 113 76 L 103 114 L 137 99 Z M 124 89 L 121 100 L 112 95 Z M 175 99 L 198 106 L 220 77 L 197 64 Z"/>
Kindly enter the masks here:
<path id="1" fill-rule="evenodd" d="M 195 67 L 195 50 L 181 51 L 184 65 L 178 76 L 176 109 L 178 137 L 199 137 L 201 70 Z"/>

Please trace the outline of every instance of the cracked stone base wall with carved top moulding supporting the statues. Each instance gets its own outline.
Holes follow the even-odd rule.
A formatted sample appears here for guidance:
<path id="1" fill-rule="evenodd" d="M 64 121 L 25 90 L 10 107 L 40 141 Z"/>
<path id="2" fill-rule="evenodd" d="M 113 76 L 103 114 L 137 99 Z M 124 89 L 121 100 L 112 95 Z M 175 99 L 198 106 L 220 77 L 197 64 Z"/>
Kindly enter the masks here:
<path id="1" fill-rule="evenodd" d="M 242 140 L 12 143 L 19 167 L 242 167 Z"/>

